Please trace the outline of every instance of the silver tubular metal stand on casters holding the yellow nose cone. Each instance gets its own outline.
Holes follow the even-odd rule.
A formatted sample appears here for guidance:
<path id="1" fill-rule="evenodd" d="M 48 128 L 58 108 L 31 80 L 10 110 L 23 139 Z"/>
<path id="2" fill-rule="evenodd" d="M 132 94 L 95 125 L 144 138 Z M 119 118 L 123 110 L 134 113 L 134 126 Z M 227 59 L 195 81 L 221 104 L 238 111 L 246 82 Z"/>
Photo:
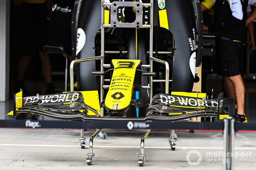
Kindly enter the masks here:
<path id="1" fill-rule="evenodd" d="M 113 3 L 117 3 L 117 2 L 113 2 Z M 119 4 L 123 4 L 124 6 L 127 6 L 128 2 L 118 2 Z M 126 3 L 126 4 L 124 4 Z M 167 51 L 161 51 L 161 52 L 154 52 L 153 51 L 153 0 L 150 1 L 150 3 L 140 3 L 140 2 L 129 2 L 129 4 L 132 3 L 139 3 L 138 6 L 140 6 L 140 4 L 142 5 L 142 7 L 150 7 L 150 25 L 141 25 L 139 28 L 150 28 L 150 41 L 149 41 L 149 51 L 147 52 L 147 54 L 149 54 L 149 65 L 142 65 L 142 68 L 149 68 L 150 72 L 153 72 L 153 61 L 154 62 L 158 62 L 161 64 L 165 65 L 165 80 L 153 80 L 153 76 L 150 76 L 150 82 L 149 82 L 149 86 L 142 86 L 142 89 L 149 89 L 150 90 L 150 94 L 149 94 L 149 99 L 150 99 L 150 103 L 152 102 L 152 98 L 153 98 L 153 82 L 165 82 L 165 93 L 169 94 L 169 83 L 172 82 L 172 80 L 169 80 L 169 72 L 170 72 L 170 68 L 169 68 L 169 63 L 167 61 L 155 58 L 153 56 L 153 54 L 159 53 L 159 54 L 172 54 L 172 52 L 167 52 Z M 104 23 L 104 8 L 105 6 L 111 6 L 112 3 L 104 3 L 104 0 L 101 0 L 101 56 L 95 56 L 95 57 L 91 57 L 91 58 L 86 58 L 86 59 L 77 59 L 77 60 L 73 60 L 70 64 L 70 91 L 74 92 L 74 66 L 77 63 L 82 63 L 82 62 L 88 62 L 88 61 L 93 61 L 93 60 L 101 60 L 101 72 L 104 72 L 104 67 L 110 67 L 110 64 L 105 64 L 104 63 L 104 56 L 105 54 L 117 54 L 119 53 L 118 51 L 105 51 L 105 27 L 112 27 L 111 24 L 105 24 Z M 114 6 L 117 4 L 114 4 Z M 128 5 L 129 6 L 129 5 Z M 142 7 L 140 7 L 142 9 Z M 129 28 L 131 28 L 131 26 L 129 26 Z M 138 25 L 134 28 L 138 28 Z M 174 41 L 174 38 L 173 38 Z M 174 43 L 174 42 L 173 42 Z M 173 44 L 174 47 L 174 44 Z M 123 52 L 125 53 L 125 52 Z M 126 51 L 127 53 L 127 51 Z M 104 76 L 100 75 L 100 103 L 102 103 L 103 98 L 104 98 L 104 88 L 109 88 L 108 85 L 104 85 L 104 81 L 106 82 L 110 82 L 110 79 L 106 79 L 104 80 Z M 95 114 L 96 116 L 99 116 L 97 114 Z M 103 117 L 104 115 L 104 108 L 101 107 L 101 117 Z M 86 162 L 88 165 L 91 165 L 94 159 L 94 153 L 93 153 L 93 139 L 99 135 L 100 133 L 102 133 L 102 130 L 104 129 L 97 129 L 97 131 L 91 135 L 90 137 L 90 142 L 89 142 L 89 154 L 87 154 L 87 158 L 86 158 Z M 105 131 L 109 131 L 109 129 L 105 129 Z M 143 166 L 144 161 L 146 160 L 146 155 L 144 155 L 144 140 L 146 139 L 146 137 L 148 136 L 148 134 L 150 133 L 150 129 L 148 130 L 140 130 L 140 131 L 144 131 L 145 134 L 143 135 L 143 137 L 141 138 L 141 153 L 139 155 L 139 165 Z M 175 143 L 175 139 L 174 139 L 174 130 L 170 130 L 171 131 L 171 141 L 170 145 L 172 147 L 172 150 L 175 149 L 176 147 L 176 143 Z M 81 129 L 80 131 L 80 145 L 81 148 L 84 148 L 85 146 L 85 138 L 84 138 L 84 129 Z M 174 149 L 173 149 L 174 148 Z"/>

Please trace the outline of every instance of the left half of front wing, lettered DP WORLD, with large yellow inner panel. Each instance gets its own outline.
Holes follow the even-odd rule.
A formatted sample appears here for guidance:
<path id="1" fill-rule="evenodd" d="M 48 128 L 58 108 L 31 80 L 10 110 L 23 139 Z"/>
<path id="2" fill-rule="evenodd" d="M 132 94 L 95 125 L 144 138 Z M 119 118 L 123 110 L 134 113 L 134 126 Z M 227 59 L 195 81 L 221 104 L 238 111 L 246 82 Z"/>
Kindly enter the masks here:
<path id="1" fill-rule="evenodd" d="M 99 116 L 98 92 L 79 91 L 22 97 L 21 90 L 14 94 L 13 111 L 7 115 L 19 116 L 20 114 L 27 113 L 29 117 L 39 112 Z"/>

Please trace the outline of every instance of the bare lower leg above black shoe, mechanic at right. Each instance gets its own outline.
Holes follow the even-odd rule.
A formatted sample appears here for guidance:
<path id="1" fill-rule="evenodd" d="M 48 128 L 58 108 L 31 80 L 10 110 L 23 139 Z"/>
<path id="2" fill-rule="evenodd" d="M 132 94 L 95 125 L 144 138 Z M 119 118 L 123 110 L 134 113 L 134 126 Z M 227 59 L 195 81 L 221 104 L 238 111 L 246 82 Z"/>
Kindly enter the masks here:
<path id="1" fill-rule="evenodd" d="M 237 114 L 245 115 L 244 114 L 244 96 L 245 96 L 244 81 L 241 75 L 231 76 L 229 77 L 229 80 L 232 82 L 234 86 L 234 93 L 235 93 L 236 102 L 237 102 Z"/>

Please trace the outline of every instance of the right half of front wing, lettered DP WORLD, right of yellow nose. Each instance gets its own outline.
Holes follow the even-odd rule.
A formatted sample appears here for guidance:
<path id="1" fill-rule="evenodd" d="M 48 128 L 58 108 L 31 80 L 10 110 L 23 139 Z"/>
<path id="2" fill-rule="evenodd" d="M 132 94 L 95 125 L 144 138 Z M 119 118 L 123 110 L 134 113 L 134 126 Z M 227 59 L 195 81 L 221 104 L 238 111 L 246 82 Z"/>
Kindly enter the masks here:
<path id="1" fill-rule="evenodd" d="M 179 93 L 173 92 L 172 94 Z M 219 94 L 218 100 L 205 99 L 206 95 L 203 95 L 203 98 L 195 97 L 197 93 L 191 95 L 191 93 L 184 94 L 183 92 L 182 96 L 172 94 L 156 94 L 147 109 L 146 116 L 174 116 L 199 113 L 200 115 L 213 113 L 218 119 L 228 116 L 224 112 L 223 93 Z M 202 97 L 202 94 L 196 96 Z"/>

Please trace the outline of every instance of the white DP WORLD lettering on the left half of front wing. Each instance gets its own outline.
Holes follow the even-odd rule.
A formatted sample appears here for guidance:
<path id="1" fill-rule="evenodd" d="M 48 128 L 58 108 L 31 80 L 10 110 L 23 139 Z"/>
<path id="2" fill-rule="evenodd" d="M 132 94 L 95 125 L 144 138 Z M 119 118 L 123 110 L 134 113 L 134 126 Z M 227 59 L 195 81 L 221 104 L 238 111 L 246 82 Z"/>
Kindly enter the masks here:
<path id="1" fill-rule="evenodd" d="M 74 93 L 72 96 L 71 94 L 60 94 L 60 95 L 46 95 L 46 96 L 35 96 L 35 97 L 27 97 L 25 99 L 24 104 L 29 104 L 29 103 L 36 103 L 39 102 L 40 104 L 42 103 L 59 103 L 59 102 L 74 102 L 78 99 L 79 94 Z"/>

